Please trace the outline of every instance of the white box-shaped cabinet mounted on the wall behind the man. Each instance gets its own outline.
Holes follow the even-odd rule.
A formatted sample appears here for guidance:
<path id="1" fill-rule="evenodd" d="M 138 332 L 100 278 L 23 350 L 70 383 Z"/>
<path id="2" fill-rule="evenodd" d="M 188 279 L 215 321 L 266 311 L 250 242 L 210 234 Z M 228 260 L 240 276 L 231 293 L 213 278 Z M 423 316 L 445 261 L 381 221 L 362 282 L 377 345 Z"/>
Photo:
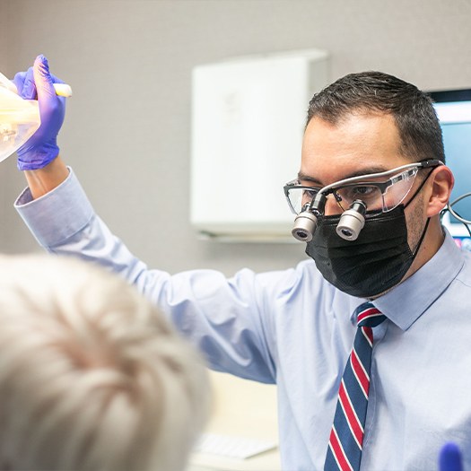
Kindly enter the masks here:
<path id="1" fill-rule="evenodd" d="M 237 57 L 193 71 L 191 222 L 214 240 L 292 240 L 283 184 L 295 178 L 326 51 Z"/>

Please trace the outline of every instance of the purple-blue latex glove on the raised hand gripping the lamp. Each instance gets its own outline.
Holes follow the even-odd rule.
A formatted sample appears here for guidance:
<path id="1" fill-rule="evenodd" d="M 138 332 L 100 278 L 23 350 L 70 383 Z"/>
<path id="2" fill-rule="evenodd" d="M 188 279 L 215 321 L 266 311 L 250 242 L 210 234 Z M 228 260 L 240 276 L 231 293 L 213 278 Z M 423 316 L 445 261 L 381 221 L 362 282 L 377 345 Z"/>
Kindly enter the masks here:
<path id="1" fill-rule="evenodd" d="M 36 133 L 16 151 L 18 169 L 42 169 L 59 154 L 57 134 L 64 122 L 65 98 L 57 96 L 53 83 L 64 82 L 49 73 L 48 59 L 41 55 L 27 72 L 16 74 L 13 83 L 22 98 L 38 100 L 41 118 Z"/>

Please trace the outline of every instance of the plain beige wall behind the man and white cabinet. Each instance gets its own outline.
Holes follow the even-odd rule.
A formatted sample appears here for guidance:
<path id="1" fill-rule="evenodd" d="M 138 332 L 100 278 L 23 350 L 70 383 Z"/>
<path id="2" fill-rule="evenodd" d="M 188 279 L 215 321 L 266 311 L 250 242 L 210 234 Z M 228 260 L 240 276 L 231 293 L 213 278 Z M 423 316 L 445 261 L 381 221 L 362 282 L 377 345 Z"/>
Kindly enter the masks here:
<path id="1" fill-rule="evenodd" d="M 470 20 L 468 0 L 2 0 L 1 66 L 13 75 L 44 53 L 73 86 L 62 154 L 130 249 L 170 272 L 209 266 L 229 275 L 292 266 L 303 247 L 196 239 L 188 222 L 191 68 L 324 48 L 332 79 L 379 69 L 425 89 L 469 87 Z M 13 211 L 23 186 L 13 159 L 0 166 L 0 186 L 0 250 L 37 249 Z"/>

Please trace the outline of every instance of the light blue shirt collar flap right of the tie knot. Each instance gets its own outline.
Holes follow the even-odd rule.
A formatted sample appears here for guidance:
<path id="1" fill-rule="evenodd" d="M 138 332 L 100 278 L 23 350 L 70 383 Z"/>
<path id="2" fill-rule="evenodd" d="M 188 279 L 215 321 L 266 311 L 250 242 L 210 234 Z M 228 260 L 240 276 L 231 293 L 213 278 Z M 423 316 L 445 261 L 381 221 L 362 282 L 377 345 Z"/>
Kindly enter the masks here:
<path id="1" fill-rule="evenodd" d="M 374 300 L 374 305 L 397 327 L 406 330 L 422 316 L 464 264 L 464 254 L 445 229 L 445 240 L 439 251 L 414 275 L 393 290 Z"/>

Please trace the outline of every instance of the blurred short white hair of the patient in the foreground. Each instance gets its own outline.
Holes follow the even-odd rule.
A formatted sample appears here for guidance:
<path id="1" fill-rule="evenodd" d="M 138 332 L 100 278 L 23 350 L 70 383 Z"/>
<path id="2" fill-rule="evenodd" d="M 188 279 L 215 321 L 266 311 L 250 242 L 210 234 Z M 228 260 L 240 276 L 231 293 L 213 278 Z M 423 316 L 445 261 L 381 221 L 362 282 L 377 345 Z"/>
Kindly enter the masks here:
<path id="1" fill-rule="evenodd" d="M 117 275 L 0 257 L 0 466 L 183 470 L 209 396 L 199 353 Z"/>

